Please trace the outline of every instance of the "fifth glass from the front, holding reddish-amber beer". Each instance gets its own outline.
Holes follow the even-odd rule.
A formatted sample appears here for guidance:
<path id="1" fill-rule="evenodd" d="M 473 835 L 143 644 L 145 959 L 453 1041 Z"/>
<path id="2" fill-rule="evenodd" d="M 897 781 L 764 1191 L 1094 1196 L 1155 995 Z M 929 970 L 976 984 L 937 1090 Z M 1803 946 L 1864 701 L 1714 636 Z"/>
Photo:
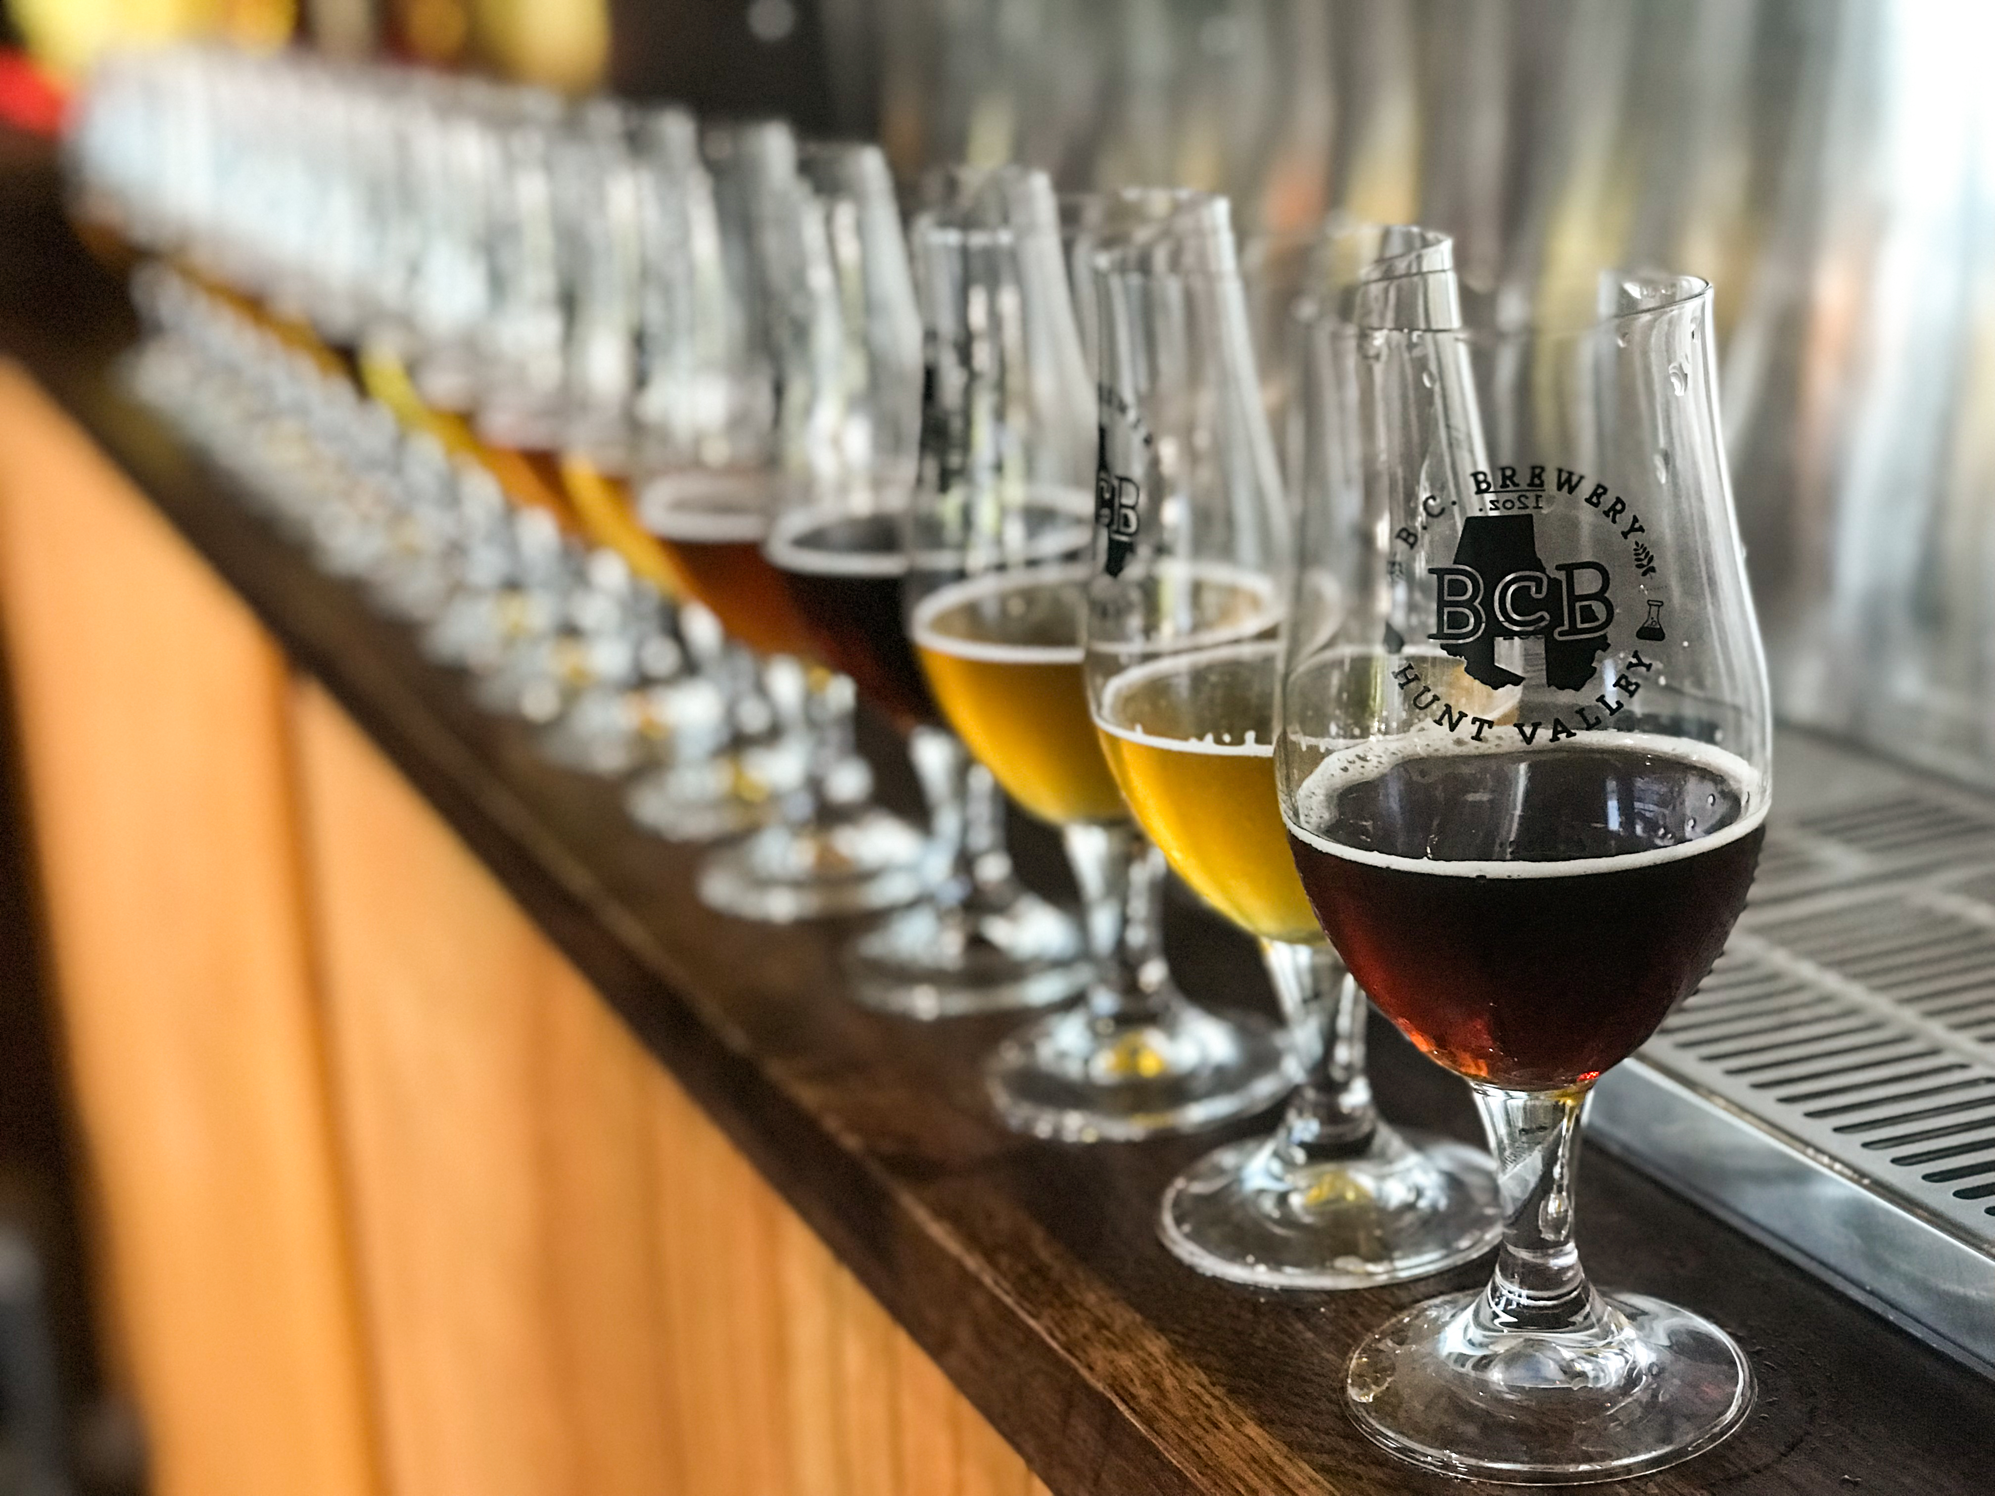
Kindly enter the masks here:
<path id="1" fill-rule="evenodd" d="M 774 922 L 890 910 L 928 886 L 930 848 L 870 800 L 872 772 L 852 750 L 852 680 L 820 668 L 796 672 L 798 660 L 848 662 L 826 648 L 806 598 L 772 561 L 772 525 L 800 495 L 826 491 L 834 477 L 854 489 L 892 491 L 892 457 L 864 439 L 880 429 L 862 415 L 878 409 L 876 391 L 848 385 L 870 365 L 848 347 L 822 207 L 796 170 L 788 126 L 710 132 L 708 158 L 730 293 L 724 335 L 712 349 L 710 399 L 690 461 L 646 477 L 640 515 L 666 541 L 690 590 L 770 660 L 764 684 L 790 728 L 790 752 L 768 762 L 782 768 L 792 760 L 794 776 L 772 786 L 780 806 L 774 824 L 708 856 L 700 898 Z M 864 325 L 850 333 L 862 343 L 866 335 Z M 864 555 L 826 564 L 836 580 L 874 580 Z M 898 578 L 888 582 L 896 594 L 886 606 L 898 618 Z M 864 618 L 854 614 L 852 628 L 864 632 Z M 870 662 L 852 660 L 858 668 Z M 806 680 L 816 682 L 808 692 Z"/>

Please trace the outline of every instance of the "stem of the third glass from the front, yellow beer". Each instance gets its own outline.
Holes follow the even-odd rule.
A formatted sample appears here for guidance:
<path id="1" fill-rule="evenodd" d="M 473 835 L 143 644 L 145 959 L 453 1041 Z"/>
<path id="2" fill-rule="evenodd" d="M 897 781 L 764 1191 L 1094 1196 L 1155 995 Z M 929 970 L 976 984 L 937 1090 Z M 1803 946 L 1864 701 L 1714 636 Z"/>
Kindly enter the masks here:
<path id="1" fill-rule="evenodd" d="M 1163 854 L 1131 822 L 1067 826 L 1063 840 L 1101 965 L 1087 1011 L 1115 1023 L 1165 1017 L 1179 997 L 1163 959 Z"/>

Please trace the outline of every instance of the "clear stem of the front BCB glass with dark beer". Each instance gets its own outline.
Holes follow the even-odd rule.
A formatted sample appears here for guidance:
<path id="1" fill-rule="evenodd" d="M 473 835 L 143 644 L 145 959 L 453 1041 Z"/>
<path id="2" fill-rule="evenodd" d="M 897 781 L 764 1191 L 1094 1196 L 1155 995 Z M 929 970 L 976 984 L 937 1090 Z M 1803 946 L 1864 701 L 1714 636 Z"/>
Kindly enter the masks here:
<path id="1" fill-rule="evenodd" d="M 1590 1087 L 1470 1089 L 1502 1197 L 1502 1251 L 1476 1318 L 1488 1330 L 1560 1332 L 1596 1324 L 1604 1307 L 1572 1245 L 1580 1111 Z"/>

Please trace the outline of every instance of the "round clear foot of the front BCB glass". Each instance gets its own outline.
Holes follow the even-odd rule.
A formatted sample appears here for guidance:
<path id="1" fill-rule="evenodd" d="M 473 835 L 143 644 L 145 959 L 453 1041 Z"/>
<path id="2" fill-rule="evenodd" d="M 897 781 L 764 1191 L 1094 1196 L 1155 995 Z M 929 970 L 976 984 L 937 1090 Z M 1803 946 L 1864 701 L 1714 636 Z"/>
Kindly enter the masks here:
<path id="1" fill-rule="evenodd" d="M 1408 1309 L 1351 1356 L 1351 1414 L 1393 1454 L 1514 1486 L 1624 1480 L 1708 1450 L 1752 1408 L 1730 1334 L 1640 1295 L 1572 1330 L 1496 1322 L 1484 1295 Z"/>

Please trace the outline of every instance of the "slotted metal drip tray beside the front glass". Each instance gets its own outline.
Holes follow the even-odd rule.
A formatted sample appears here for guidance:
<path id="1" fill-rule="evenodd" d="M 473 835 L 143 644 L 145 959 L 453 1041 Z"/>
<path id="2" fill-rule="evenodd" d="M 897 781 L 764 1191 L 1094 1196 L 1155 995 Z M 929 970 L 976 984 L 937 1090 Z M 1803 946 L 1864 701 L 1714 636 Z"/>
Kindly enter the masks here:
<path id="1" fill-rule="evenodd" d="M 1784 732 L 1732 943 L 1588 1131 L 1995 1374 L 1995 798 Z"/>

